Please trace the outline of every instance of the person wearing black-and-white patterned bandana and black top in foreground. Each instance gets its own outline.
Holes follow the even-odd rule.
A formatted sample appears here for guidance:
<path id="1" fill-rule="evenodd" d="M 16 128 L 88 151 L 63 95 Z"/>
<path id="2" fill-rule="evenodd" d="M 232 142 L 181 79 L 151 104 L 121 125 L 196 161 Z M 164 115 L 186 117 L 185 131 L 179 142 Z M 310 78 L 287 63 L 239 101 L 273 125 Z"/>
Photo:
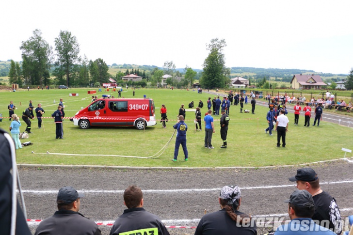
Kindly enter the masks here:
<path id="1" fill-rule="evenodd" d="M 223 187 L 218 202 L 221 210 L 204 215 L 196 227 L 195 235 L 257 235 L 255 222 L 239 211 L 241 190 L 238 186 Z"/>

